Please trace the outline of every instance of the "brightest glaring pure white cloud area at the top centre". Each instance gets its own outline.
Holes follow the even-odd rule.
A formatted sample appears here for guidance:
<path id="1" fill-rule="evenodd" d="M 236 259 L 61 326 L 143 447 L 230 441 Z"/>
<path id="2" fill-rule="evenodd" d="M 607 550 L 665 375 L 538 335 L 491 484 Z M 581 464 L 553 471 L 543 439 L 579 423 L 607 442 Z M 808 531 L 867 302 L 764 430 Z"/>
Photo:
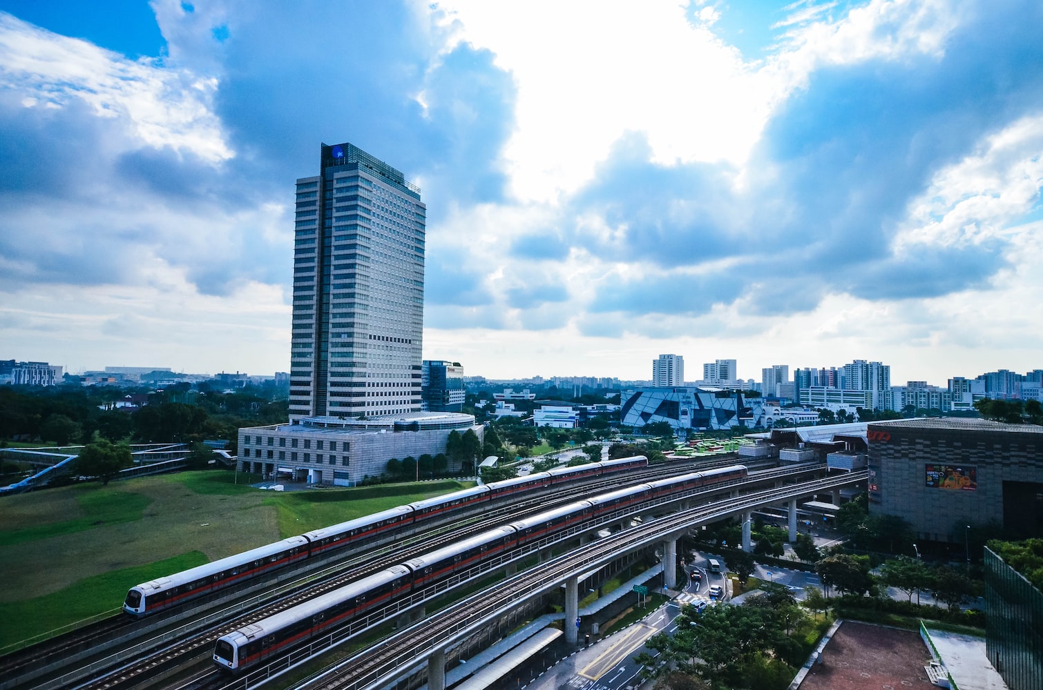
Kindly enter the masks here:
<path id="1" fill-rule="evenodd" d="M 513 192 L 577 189 L 626 131 L 654 159 L 742 162 L 766 117 L 757 77 L 676 2 L 442 3 L 457 39 L 490 49 L 517 83 L 508 143 Z"/>

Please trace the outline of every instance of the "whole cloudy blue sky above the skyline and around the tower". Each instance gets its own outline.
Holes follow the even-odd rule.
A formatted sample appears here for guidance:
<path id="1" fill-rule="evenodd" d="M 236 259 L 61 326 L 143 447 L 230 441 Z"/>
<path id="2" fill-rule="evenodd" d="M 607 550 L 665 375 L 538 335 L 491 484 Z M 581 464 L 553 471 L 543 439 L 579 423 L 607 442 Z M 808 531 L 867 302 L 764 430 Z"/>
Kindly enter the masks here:
<path id="1" fill-rule="evenodd" d="M 286 370 L 293 181 L 349 141 L 470 374 L 1043 366 L 1039 2 L 639 7 L 0 0 L 0 356 Z"/>

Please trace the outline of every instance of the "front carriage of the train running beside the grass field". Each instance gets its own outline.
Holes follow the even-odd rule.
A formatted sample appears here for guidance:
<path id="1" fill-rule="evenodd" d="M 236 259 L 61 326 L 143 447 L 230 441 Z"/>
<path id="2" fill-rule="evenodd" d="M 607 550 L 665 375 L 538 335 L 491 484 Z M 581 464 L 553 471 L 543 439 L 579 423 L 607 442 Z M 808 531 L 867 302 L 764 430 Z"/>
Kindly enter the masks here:
<path id="1" fill-rule="evenodd" d="M 140 618 L 307 558 L 308 540 L 290 537 L 131 587 L 123 610 Z"/>

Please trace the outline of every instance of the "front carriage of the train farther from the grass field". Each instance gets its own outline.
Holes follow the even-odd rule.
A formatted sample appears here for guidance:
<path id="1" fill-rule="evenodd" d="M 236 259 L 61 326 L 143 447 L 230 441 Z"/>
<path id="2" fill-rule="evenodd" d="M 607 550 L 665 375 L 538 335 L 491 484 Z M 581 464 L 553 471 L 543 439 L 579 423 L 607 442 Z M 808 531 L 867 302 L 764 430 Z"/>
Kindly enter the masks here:
<path id="1" fill-rule="evenodd" d="M 242 670 L 385 606 L 409 589 L 409 568 L 382 570 L 218 638 L 214 663 Z"/>

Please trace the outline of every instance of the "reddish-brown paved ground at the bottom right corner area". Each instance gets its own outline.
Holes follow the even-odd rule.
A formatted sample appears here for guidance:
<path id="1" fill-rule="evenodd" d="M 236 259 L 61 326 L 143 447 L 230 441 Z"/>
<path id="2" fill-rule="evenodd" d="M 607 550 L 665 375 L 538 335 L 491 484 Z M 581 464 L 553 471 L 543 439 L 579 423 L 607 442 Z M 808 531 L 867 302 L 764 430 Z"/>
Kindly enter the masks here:
<path id="1" fill-rule="evenodd" d="M 800 690 L 930 690 L 930 661 L 918 633 L 844 621 Z"/>

